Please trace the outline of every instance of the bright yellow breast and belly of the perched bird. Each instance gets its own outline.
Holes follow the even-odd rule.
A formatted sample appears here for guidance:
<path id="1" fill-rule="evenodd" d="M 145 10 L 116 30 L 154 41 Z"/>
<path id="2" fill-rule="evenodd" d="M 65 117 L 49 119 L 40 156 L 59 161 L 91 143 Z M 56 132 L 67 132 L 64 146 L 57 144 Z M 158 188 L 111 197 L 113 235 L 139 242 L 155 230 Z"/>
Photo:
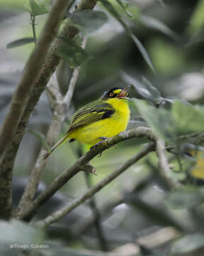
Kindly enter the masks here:
<path id="1" fill-rule="evenodd" d="M 106 102 L 111 104 L 115 109 L 115 112 L 111 117 L 74 129 L 69 132 L 69 138 L 77 139 L 79 142 L 85 144 L 94 145 L 101 141 L 100 137 L 109 138 L 125 131 L 130 119 L 128 101 L 125 99 L 113 98 Z"/>

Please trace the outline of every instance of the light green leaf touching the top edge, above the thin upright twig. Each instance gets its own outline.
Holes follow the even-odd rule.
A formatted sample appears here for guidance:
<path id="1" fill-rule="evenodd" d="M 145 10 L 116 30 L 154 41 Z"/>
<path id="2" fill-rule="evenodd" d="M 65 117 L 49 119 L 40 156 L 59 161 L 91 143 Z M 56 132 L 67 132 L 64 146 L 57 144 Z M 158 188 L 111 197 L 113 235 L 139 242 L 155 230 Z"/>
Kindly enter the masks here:
<path id="1" fill-rule="evenodd" d="M 33 16 L 49 13 L 45 1 L 27 0 L 25 7 Z"/>

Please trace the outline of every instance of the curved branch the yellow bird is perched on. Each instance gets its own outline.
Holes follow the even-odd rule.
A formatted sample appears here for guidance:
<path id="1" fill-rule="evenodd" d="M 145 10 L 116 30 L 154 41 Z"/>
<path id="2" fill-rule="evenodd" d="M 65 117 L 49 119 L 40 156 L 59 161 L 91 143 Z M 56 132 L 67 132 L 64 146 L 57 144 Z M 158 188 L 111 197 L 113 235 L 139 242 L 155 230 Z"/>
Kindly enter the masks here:
<path id="1" fill-rule="evenodd" d="M 43 193 L 38 196 L 38 198 L 33 201 L 32 205 L 30 206 L 29 210 L 21 216 L 22 220 L 30 220 L 35 211 L 45 203 L 58 189 L 64 186 L 69 179 L 71 179 L 75 174 L 79 171 L 84 170 L 91 159 L 94 156 L 97 156 L 102 151 L 109 149 L 111 146 L 114 146 L 118 142 L 125 141 L 127 139 L 135 138 L 135 137 L 147 137 L 149 139 L 155 139 L 154 135 L 152 134 L 151 129 L 147 127 L 137 127 L 136 129 L 130 129 L 126 132 L 120 132 L 120 134 L 107 139 L 105 142 L 102 142 L 98 146 L 91 148 L 84 156 L 75 162 L 69 169 L 65 170 L 60 176 L 55 178 L 50 186 L 48 186 Z"/>

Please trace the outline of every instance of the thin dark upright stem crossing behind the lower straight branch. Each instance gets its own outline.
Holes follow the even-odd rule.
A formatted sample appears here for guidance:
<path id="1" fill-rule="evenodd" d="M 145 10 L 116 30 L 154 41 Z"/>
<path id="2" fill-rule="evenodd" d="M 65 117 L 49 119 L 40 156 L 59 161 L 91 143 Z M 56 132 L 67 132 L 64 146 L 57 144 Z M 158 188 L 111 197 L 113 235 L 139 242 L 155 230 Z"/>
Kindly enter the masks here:
<path id="1" fill-rule="evenodd" d="M 87 171 L 85 171 L 84 174 L 85 174 L 85 178 L 86 178 L 87 187 L 91 188 L 90 174 Z M 94 215 L 94 226 L 96 228 L 98 242 L 100 244 L 101 250 L 106 252 L 106 251 L 108 251 L 108 247 L 107 247 L 106 239 L 104 237 L 103 228 L 101 226 L 101 215 L 96 206 L 96 197 L 95 196 L 92 196 L 90 199 L 90 207 L 91 207 L 92 213 Z"/>

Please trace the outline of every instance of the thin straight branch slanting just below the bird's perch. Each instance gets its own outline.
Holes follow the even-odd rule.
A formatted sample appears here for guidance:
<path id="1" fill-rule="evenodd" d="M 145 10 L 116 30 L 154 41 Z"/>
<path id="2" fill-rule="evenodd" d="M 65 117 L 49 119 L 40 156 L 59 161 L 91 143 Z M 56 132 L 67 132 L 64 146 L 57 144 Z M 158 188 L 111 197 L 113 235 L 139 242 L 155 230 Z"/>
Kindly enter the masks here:
<path id="1" fill-rule="evenodd" d="M 47 227 L 48 225 L 55 223 L 57 220 L 60 220 L 60 218 L 64 217 L 64 215 L 67 215 L 68 213 L 70 213 L 72 210 L 74 210 L 74 208 L 77 208 L 77 206 L 79 206 L 81 203 L 84 203 L 88 198 L 91 198 L 95 193 L 100 191 L 101 188 L 103 188 L 108 183 L 113 181 L 114 178 L 122 174 L 123 171 L 128 169 L 132 164 L 135 164 L 137 161 L 142 159 L 142 157 L 146 156 L 149 152 L 153 151 L 154 146 L 155 146 L 154 142 L 148 144 L 148 146 L 145 146 L 145 148 L 143 148 L 131 159 L 126 161 L 122 166 L 120 166 L 118 169 L 115 169 L 115 171 L 109 174 L 106 178 L 103 178 L 103 180 L 98 182 L 95 186 L 93 186 L 92 188 L 89 188 L 89 190 L 86 191 L 84 195 L 74 200 L 68 206 L 64 206 L 60 210 L 56 210 L 55 213 L 52 213 L 52 215 L 49 215 L 44 220 L 39 221 L 38 224 Z"/>

